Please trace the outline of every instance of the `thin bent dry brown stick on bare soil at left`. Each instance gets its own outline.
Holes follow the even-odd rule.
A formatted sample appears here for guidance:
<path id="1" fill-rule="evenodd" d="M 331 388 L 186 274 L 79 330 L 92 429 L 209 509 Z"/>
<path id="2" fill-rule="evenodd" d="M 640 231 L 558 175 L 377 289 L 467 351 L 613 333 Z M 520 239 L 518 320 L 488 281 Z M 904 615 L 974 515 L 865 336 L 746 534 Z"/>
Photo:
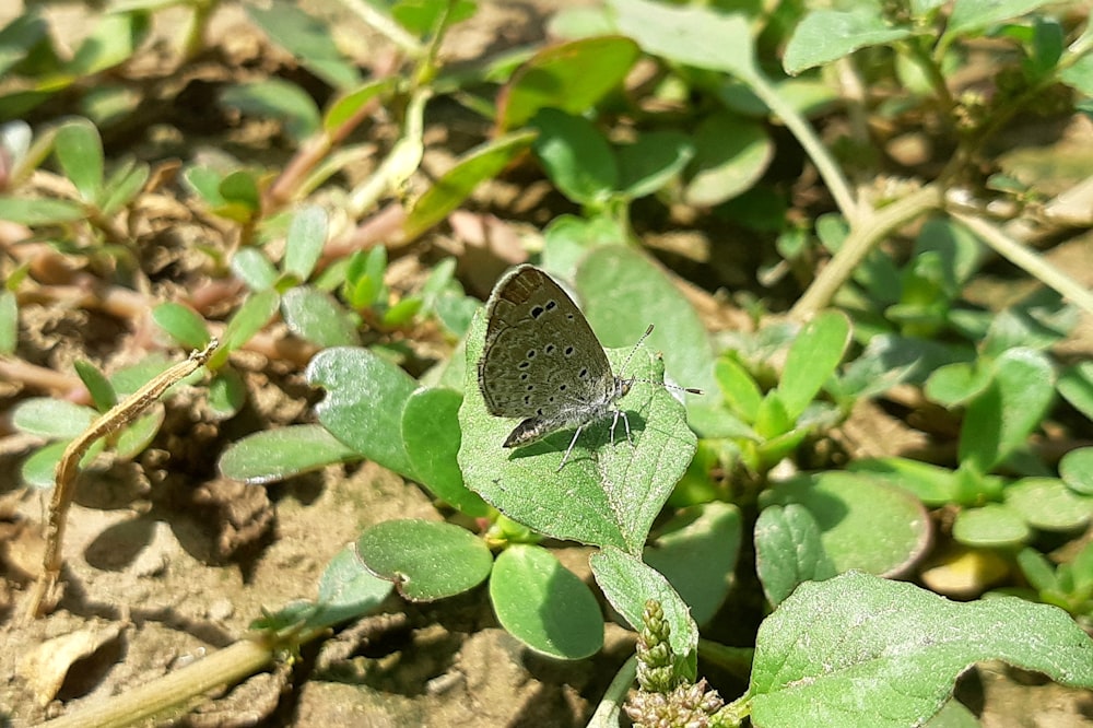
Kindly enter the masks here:
<path id="1" fill-rule="evenodd" d="M 46 528 L 46 552 L 42 559 L 42 573 L 34 585 L 26 618 L 34 619 L 45 614 L 46 597 L 49 596 L 61 572 L 61 544 L 64 541 L 64 526 L 68 520 L 69 506 L 72 505 L 73 486 L 80 459 L 92 444 L 105 435 L 129 424 L 155 402 L 168 387 L 180 381 L 198 371 L 212 355 L 218 341 L 213 339 L 201 351 L 193 351 L 189 359 L 175 364 L 171 368 L 152 378 L 151 381 L 134 391 L 129 397 L 115 404 L 108 412 L 91 423 L 82 435 L 69 443 L 64 454 L 57 463 L 54 485 L 54 498 L 49 504 L 49 525 Z"/>

